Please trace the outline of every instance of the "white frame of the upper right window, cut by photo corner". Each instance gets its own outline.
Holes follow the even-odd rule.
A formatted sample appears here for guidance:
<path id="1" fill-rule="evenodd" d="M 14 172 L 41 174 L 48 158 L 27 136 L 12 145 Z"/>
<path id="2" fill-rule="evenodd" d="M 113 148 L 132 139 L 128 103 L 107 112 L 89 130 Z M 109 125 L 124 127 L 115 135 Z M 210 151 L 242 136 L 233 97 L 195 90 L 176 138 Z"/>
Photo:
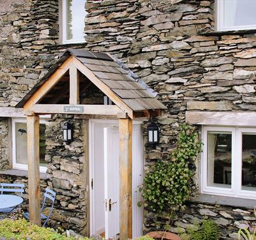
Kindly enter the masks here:
<path id="1" fill-rule="evenodd" d="M 226 0 L 216 0 L 217 3 L 217 31 L 226 32 L 226 31 L 236 31 L 236 30 L 252 30 L 256 29 L 256 25 L 243 25 L 236 27 L 225 27 L 224 26 L 224 1 Z"/>

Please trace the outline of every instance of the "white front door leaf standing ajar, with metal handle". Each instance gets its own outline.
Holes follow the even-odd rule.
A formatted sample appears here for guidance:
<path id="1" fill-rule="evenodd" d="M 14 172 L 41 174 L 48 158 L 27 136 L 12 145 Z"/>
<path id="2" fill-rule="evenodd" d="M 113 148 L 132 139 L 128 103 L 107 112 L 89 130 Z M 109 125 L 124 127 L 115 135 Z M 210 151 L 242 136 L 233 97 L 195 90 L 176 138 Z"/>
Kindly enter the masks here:
<path id="1" fill-rule="evenodd" d="M 119 233 L 119 129 L 104 128 L 105 238 Z"/>

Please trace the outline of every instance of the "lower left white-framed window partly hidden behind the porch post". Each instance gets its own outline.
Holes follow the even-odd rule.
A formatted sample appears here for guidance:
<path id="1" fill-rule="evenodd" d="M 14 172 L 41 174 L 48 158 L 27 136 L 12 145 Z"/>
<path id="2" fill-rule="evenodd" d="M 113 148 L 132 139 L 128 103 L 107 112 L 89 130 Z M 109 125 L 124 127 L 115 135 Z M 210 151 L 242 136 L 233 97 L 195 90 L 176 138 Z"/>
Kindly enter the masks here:
<path id="1" fill-rule="evenodd" d="M 27 120 L 12 120 L 12 139 L 13 139 L 13 168 L 28 169 L 27 160 Z M 46 172 L 46 121 L 40 120 L 39 125 L 39 154 L 40 154 L 40 172 Z"/>

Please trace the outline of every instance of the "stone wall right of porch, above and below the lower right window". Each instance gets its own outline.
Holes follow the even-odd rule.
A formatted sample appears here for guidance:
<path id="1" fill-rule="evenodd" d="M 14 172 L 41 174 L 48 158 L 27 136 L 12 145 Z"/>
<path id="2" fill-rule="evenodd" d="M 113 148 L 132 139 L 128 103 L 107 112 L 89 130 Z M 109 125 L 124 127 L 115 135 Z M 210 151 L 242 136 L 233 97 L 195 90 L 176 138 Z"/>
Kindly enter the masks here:
<path id="1" fill-rule="evenodd" d="M 146 148 L 147 164 L 168 157 L 185 111 L 255 111 L 255 34 L 215 33 L 214 1 L 88 1 L 87 8 L 87 47 L 121 58 L 168 106 L 154 119 L 160 144 Z M 191 203 L 171 231 L 207 216 L 223 239 L 255 224 L 252 209 Z M 145 210 L 145 231 L 165 223 Z"/>

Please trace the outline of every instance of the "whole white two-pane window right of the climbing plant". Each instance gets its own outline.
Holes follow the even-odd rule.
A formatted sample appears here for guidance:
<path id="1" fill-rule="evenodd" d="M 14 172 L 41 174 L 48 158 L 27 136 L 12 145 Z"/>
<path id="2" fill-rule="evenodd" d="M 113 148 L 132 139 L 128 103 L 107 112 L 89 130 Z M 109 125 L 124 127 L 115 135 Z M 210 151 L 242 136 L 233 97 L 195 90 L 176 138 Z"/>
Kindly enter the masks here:
<path id="1" fill-rule="evenodd" d="M 204 126 L 202 193 L 256 197 L 256 129 Z"/>

